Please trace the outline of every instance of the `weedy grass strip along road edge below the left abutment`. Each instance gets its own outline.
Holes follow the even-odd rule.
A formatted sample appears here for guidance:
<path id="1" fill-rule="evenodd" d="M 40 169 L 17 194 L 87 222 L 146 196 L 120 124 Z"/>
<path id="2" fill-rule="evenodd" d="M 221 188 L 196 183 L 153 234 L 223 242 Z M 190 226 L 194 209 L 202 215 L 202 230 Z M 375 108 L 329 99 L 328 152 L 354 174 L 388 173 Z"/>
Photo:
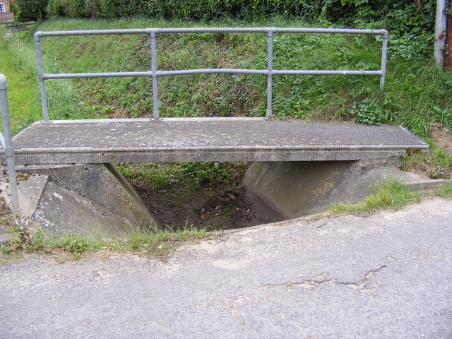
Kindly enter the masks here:
<path id="1" fill-rule="evenodd" d="M 82 234 L 73 232 L 54 236 L 38 229 L 33 232 L 26 226 L 12 226 L 9 229 L 11 240 L 1 246 L 3 254 L 16 251 L 38 251 L 52 253 L 52 251 L 66 251 L 80 259 L 86 251 L 131 251 L 149 256 L 167 256 L 183 242 L 194 241 L 209 236 L 205 228 L 185 225 L 179 230 L 145 230 L 134 228 L 122 238 L 107 238 L 101 232 Z"/>

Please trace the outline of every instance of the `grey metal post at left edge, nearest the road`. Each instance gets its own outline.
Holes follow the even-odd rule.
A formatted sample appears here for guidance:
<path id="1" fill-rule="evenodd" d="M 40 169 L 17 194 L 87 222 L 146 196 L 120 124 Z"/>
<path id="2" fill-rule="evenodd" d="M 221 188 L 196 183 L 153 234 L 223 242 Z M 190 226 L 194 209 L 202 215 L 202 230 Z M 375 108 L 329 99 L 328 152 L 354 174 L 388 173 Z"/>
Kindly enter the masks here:
<path id="1" fill-rule="evenodd" d="M 11 136 L 11 126 L 9 124 L 8 96 L 6 95 L 6 77 L 0 74 L 0 107 L 1 120 L 3 122 L 5 157 L 8 164 L 9 188 L 11 189 L 11 204 L 13 215 L 20 219 L 19 195 L 16 179 L 16 165 L 14 163 L 13 139 Z"/>

